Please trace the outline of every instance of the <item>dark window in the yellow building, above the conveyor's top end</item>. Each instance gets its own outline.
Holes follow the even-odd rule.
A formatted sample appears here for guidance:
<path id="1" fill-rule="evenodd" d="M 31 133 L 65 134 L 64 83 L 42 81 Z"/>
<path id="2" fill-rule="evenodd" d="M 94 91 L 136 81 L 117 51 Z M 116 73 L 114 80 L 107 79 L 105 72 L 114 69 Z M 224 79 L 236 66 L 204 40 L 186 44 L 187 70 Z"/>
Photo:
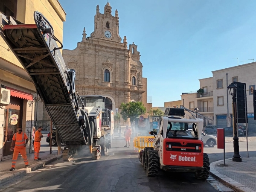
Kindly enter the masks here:
<path id="1" fill-rule="evenodd" d="M 0 12 L 6 16 L 17 17 L 17 0 L 1 0 Z"/>

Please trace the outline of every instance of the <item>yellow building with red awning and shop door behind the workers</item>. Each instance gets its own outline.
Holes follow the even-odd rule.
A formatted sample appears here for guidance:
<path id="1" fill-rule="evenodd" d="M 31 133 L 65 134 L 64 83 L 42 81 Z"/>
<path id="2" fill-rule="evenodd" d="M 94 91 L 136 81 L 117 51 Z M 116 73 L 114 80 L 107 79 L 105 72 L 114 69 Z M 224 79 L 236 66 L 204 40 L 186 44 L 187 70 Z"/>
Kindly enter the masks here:
<path id="1" fill-rule="evenodd" d="M 1 0 L 0 11 L 26 24 L 35 23 L 34 12 L 41 12 L 55 29 L 54 35 L 62 41 L 66 13 L 58 0 L 40 0 L 37 3 L 34 0 Z M 18 126 L 23 127 L 31 141 L 35 111 L 33 94 L 36 90 L 26 70 L 1 37 L 0 86 L 7 89 L 10 96 L 9 105 L 0 106 L 0 160 L 4 160 L 12 157 L 13 152 L 9 149 Z M 33 152 L 31 142 L 26 152 Z"/>

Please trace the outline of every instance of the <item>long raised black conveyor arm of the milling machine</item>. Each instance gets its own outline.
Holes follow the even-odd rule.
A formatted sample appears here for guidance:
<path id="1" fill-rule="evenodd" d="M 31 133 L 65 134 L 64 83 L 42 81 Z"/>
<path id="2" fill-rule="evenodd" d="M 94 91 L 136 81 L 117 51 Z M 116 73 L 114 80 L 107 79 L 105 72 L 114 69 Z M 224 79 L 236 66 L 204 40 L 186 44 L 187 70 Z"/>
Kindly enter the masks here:
<path id="1" fill-rule="evenodd" d="M 87 110 L 79 107 L 75 89 L 76 73 L 67 69 L 49 21 L 34 12 L 35 24 L 24 24 L 14 17 L 0 14 L 0 35 L 31 77 L 44 102 L 61 140 L 65 144 L 63 159 L 70 160 L 82 145 L 90 145 L 94 156 L 100 157 L 100 146 L 93 146 L 93 126 Z M 58 47 L 57 42 L 61 45 Z M 84 106 L 82 104 L 82 106 Z"/>

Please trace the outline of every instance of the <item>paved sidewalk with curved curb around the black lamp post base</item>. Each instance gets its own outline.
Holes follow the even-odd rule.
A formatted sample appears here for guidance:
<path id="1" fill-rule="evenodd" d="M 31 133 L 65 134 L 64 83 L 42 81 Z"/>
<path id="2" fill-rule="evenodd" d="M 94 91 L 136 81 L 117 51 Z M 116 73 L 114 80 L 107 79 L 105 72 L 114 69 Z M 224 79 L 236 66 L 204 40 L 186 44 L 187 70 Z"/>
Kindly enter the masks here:
<path id="1" fill-rule="evenodd" d="M 243 157 L 242 162 L 232 159 L 210 164 L 211 175 L 236 192 L 256 192 L 256 157 Z"/>

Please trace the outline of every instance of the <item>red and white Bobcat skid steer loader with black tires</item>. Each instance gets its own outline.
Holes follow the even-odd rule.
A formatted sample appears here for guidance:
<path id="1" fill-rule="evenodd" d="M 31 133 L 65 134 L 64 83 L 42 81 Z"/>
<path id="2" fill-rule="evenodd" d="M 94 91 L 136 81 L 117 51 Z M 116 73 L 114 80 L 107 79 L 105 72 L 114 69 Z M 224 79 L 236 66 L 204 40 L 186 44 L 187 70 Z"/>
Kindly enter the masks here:
<path id="1" fill-rule="evenodd" d="M 198 179 L 209 177 L 209 157 L 204 153 L 201 139 L 203 119 L 185 119 L 182 108 L 169 108 L 160 120 L 160 129 L 154 135 L 154 147 L 145 147 L 139 159 L 147 176 L 157 177 L 158 170 L 194 172 Z M 192 123 L 192 131 L 188 131 Z"/>

